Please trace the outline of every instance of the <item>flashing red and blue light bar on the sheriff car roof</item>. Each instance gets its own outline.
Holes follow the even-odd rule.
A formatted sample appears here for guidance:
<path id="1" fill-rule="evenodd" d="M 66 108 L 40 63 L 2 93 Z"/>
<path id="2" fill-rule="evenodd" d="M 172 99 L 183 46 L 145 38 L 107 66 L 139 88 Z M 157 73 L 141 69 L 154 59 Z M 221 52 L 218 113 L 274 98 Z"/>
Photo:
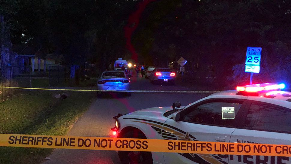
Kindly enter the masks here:
<path id="1" fill-rule="evenodd" d="M 284 89 L 284 88 L 285 88 L 285 84 L 265 83 L 265 84 L 238 86 L 236 87 L 236 90 L 245 91 L 245 92 L 259 92 L 263 90 L 278 90 L 278 89 Z"/>

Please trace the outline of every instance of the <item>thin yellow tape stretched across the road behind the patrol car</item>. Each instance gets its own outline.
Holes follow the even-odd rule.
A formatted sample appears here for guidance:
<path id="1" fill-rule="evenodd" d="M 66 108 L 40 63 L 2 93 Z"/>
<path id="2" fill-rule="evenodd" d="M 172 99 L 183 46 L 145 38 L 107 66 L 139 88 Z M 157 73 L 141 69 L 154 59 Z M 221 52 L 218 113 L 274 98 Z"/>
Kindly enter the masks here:
<path id="1" fill-rule="evenodd" d="M 79 90 L 79 89 L 59 89 L 59 88 L 26 88 L 26 87 L 1 87 L 26 90 L 58 90 L 58 91 L 85 91 L 85 92 L 151 92 L 151 93 L 217 93 L 219 90 Z"/>

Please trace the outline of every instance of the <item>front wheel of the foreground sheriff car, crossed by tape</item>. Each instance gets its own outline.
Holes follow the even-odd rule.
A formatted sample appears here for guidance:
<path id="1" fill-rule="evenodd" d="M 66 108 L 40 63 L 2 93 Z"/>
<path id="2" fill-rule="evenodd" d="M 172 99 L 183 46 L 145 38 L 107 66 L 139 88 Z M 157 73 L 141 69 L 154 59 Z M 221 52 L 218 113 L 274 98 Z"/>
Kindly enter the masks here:
<path id="1" fill-rule="evenodd" d="M 128 131 L 121 138 L 142 138 L 146 139 L 146 136 L 141 132 Z M 122 164 L 152 164 L 153 158 L 151 152 L 145 151 L 118 151 L 118 156 Z"/>

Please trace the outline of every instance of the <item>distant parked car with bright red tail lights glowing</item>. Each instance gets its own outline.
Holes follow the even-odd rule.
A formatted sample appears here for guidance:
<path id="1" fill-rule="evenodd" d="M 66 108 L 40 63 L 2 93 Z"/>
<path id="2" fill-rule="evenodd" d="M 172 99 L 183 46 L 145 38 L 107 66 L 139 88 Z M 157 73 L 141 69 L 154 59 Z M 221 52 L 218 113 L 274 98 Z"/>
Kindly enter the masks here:
<path id="1" fill-rule="evenodd" d="M 175 84 L 176 73 L 170 68 L 155 68 L 150 75 L 150 80 L 153 84 L 158 82 L 167 82 Z"/>

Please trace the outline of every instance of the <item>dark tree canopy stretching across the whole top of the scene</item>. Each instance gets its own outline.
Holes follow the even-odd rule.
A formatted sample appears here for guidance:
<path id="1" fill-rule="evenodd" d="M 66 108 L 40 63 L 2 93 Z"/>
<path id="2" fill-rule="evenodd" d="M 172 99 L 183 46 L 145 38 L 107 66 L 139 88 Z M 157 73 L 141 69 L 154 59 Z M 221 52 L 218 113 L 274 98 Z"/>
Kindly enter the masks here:
<path id="1" fill-rule="evenodd" d="M 216 83 L 244 83 L 246 47 L 262 47 L 257 82 L 291 81 L 291 0 L 4 0 L 13 44 L 38 45 L 64 54 L 65 64 L 92 62 L 101 70 L 117 57 L 167 66 L 181 56 L 186 70 L 216 77 Z M 9 7 L 11 6 L 11 7 Z M 130 16 L 140 14 L 131 37 Z M 238 80 L 239 79 L 239 80 Z"/>

